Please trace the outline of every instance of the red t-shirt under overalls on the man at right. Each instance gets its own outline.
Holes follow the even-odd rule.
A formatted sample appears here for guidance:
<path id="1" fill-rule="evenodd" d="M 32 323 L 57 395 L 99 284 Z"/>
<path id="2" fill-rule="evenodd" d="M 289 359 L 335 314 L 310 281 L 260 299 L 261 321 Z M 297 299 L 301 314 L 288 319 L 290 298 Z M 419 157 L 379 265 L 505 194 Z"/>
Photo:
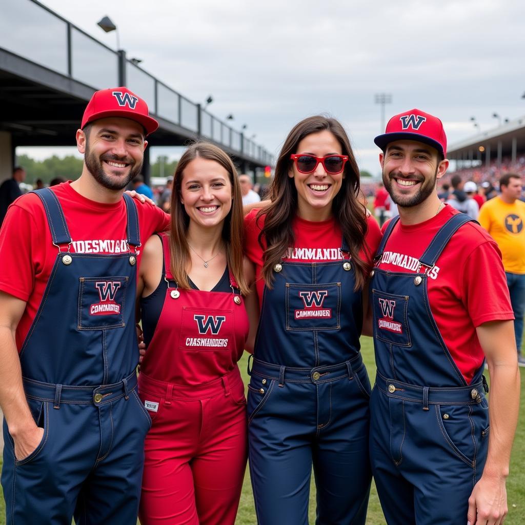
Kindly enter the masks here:
<path id="1" fill-rule="evenodd" d="M 446 205 L 423 223 L 398 222 L 377 267 L 417 272 L 417 259 L 456 213 Z M 498 245 L 478 224 L 467 223 L 449 240 L 428 277 L 430 310 L 452 358 L 470 383 L 484 359 L 476 327 L 488 321 L 514 319 Z"/>

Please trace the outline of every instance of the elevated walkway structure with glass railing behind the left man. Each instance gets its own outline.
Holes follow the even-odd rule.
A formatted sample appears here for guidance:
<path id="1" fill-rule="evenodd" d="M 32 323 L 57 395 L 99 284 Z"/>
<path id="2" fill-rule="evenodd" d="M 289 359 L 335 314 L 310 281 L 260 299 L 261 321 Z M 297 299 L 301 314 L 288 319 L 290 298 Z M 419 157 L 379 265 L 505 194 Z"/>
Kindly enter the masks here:
<path id="1" fill-rule="evenodd" d="M 160 128 L 150 146 L 212 141 L 241 171 L 274 163 L 262 146 L 215 118 L 36 0 L 10 0 L 0 17 L 0 180 L 17 146 L 75 145 L 83 109 L 97 89 L 127 86 L 144 98 Z M 146 150 L 148 152 L 149 150 Z M 149 155 L 144 172 L 149 175 Z"/>

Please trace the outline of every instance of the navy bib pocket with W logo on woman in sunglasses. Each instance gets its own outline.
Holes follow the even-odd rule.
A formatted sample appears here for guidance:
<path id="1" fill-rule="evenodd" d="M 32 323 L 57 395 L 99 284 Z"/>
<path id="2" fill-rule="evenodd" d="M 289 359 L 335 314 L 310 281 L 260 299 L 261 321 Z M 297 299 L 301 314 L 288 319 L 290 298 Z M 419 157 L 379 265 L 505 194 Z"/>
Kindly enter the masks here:
<path id="1" fill-rule="evenodd" d="M 341 283 L 286 283 L 287 330 L 339 330 Z"/>

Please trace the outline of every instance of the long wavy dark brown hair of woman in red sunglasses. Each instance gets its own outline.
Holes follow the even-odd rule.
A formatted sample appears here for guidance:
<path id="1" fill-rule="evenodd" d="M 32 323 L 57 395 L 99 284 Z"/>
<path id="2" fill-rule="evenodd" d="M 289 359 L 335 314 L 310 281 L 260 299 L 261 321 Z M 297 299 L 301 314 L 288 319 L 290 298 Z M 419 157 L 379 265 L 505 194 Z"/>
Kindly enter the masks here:
<path id="1" fill-rule="evenodd" d="M 366 208 L 358 201 L 360 193 L 358 165 L 355 162 L 350 140 L 342 125 L 335 119 L 317 115 L 301 120 L 288 134 L 279 153 L 274 180 L 270 186 L 271 205 L 261 209 L 257 214 L 257 219 L 266 215 L 264 227 L 259 234 L 259 244 L 264 247 L 262 244 L 264 238 L 267 247 L 264 252 L 262 277 L 269 288 L 274 281 L 274 265 L 285 256 L 288 247 L 293 247 L 295 243 L 292 220 L 297 214 L 297 189 L 293 178 L 288 176 L 293 162 L 290 155 L 297 153 L 299 142 L 304 137 L 324 130 L 334 135 L 341 144 L 342 154 L 349 157 L 344 166 L 345 177 L 342 180 L 341 189 L 332 201 L 332 212 L 349 246 L 355 274 L 354 289 L 362 289 L 364 286 L 369 268 L 359 256 L 359 251 L 365 244 L 368 226 Z"/>

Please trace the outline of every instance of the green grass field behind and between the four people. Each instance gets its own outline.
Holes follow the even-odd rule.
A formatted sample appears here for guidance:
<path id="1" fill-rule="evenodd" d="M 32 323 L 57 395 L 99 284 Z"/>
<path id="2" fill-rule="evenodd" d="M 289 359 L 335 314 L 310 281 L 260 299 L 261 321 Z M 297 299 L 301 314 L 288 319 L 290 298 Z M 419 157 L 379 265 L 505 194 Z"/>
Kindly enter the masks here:
<path id="1" fill-rule="evenodd" d="M 361 339 L 362 353 L 366 368 L 373 381 L 375 376 L 375 362 L 374 352 L 372 346 L 372 339 L 363 337 Z M 245 383 L 247 383 L 246 375 L 246 356 L 239 363 L 240 370 L 243 373 Z M 514 447 L 512 449 L 512 458 L 510 465 L 510 477 L 507 481 L 507 493 L 509 502 L 509 514 L 506 525 L 523 525 L 525 523 L 525 369 L 521 368 L 521 408 L 520 420 L 518 423 L 518 430 L 516 439 L 514 440 Z M 443 502 L 446 505 L 446 501 Z M 4 500 L 0 498 L 0 525 L 5 525 L 5 510 Z M 310 523 L 315 522 L 316 506 L 315 506 L 315 487 L 311 485 L 310 491 Z M 465 522 L 466 522 L 465 517 Z M 45 525 L 38 517 L 35 517 L 34 523 L 36 525 Z M 377 499 L 377 493 L 372 485 L 372 493 L 370 496 L 370 503 L 368 508 L 367 525 L 384 525 L 385 520 Z M 239 512 L 237 514 L 236 525 L 255 525 L 255 511 L 254 502 L 251 495 L 251 486 L 249 474 L 246 472 L 244 480 L 243 493 L 240 500 Z M 275 525 L 286 525 L 286 523 L 276 523 Z"/>

